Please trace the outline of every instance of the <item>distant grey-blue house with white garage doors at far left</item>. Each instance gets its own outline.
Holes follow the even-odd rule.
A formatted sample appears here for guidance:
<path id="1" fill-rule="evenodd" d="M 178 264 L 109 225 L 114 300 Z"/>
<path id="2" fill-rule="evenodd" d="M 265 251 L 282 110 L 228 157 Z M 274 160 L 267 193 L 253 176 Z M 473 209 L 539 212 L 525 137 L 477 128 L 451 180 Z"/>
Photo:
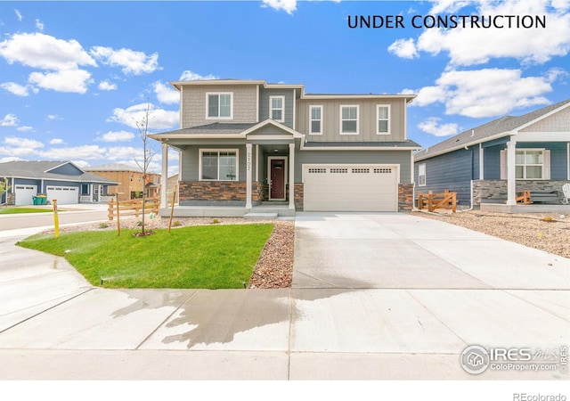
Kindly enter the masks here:
<path id="1" fill-rule="evenodd" d="M 37 194 L 58 204 L 107 201 L 109 186 L 117 185 L 71 161 L 6 161 L 0 163 L 0 177 L 8 178 L 10 186 L 0 203 L 12 205 L 32 205 Z"/>

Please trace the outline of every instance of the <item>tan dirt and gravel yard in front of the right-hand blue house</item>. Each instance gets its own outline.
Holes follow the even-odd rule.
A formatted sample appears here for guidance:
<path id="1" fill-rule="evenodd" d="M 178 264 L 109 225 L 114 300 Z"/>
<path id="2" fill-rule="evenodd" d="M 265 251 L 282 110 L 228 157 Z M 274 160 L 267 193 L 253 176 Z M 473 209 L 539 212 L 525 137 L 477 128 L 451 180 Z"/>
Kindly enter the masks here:
<path id="1" fill-rule="evenodd" d="M 509 214 L 478 210 L 458 213 L 449 213 L 449 210 L 444 210 L 442 213 L 414 213 L 570 258 L 570 214 Z"/>

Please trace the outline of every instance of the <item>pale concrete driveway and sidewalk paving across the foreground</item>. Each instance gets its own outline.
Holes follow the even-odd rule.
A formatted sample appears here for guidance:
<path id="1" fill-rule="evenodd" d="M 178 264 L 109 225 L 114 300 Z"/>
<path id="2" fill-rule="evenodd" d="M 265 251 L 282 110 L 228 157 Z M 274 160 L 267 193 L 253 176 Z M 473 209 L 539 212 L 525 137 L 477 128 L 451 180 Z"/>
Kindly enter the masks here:
<path id="1" fill-rule="evenodd" d="M 406 214 L 296 218 L 293 287 L 107 290 L 0 237 L 0 379 L 544 380 L 469 345 L 570 342 L 570 260 Z"/>

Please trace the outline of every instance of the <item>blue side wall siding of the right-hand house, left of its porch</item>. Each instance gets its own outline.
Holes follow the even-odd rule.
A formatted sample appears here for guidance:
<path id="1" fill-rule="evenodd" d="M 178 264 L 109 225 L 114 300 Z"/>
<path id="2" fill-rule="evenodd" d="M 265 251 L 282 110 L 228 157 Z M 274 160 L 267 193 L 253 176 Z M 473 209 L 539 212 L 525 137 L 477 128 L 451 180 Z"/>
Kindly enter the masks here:
<path id="1" fill-rule="evenodd" d="M 418 160 L 414 166 L 416 193 L 441 193 L 444 190 L 457 192 L 460 206 L 471 204 L 471 180 L 479 178 L 478 145 L 468 150 L 460 149 L 436 156 L 431 159 Z M 426 165 L 426 184 L 419 185 L 419 165 Z"/>

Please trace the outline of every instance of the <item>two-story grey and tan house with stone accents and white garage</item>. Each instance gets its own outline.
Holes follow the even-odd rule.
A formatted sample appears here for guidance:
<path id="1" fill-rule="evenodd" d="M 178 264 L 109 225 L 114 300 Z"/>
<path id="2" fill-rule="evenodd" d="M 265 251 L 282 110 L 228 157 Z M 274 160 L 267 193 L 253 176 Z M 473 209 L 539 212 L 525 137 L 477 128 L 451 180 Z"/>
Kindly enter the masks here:
<path id="1" fill-rule="evenodd" d="M 411 209 L 414 95 L 305 94 L 303 85 L 263 80 L 171 84 L 181 128 L 151 137 L 162 143 L 163 177 L 168 147 L 180 151 L 181 208 Z"/>

